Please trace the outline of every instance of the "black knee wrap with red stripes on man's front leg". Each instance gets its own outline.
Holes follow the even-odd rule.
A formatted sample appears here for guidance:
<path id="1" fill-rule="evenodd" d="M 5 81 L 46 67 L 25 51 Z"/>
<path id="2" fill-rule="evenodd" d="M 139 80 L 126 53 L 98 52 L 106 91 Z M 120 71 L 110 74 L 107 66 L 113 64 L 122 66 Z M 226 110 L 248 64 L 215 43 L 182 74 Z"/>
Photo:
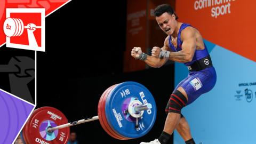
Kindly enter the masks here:
<path id="1" fill-rule="evenodd" d="M 171 98 L 167 103 L 165 111 L 166 113 L 180 114 L 181 109 L 186 106 L 186 103 L 186 97 L 180 91 L 176 90 L 171 94 Z"/>

